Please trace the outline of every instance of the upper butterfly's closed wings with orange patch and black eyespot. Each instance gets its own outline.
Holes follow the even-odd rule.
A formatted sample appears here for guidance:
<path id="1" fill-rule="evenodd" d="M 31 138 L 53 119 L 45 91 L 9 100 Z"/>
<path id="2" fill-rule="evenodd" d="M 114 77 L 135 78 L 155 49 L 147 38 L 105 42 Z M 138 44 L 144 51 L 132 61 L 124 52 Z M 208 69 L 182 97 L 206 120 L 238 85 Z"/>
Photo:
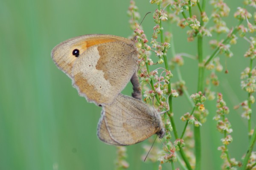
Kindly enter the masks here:
<path id="1" fill-rule="evenodd" d="M 101 105 L 112 103 L 138 68 L 132 40 L 103 34 L 64 41 L 52 50 L 52 59 L 81 96 Z"/>

